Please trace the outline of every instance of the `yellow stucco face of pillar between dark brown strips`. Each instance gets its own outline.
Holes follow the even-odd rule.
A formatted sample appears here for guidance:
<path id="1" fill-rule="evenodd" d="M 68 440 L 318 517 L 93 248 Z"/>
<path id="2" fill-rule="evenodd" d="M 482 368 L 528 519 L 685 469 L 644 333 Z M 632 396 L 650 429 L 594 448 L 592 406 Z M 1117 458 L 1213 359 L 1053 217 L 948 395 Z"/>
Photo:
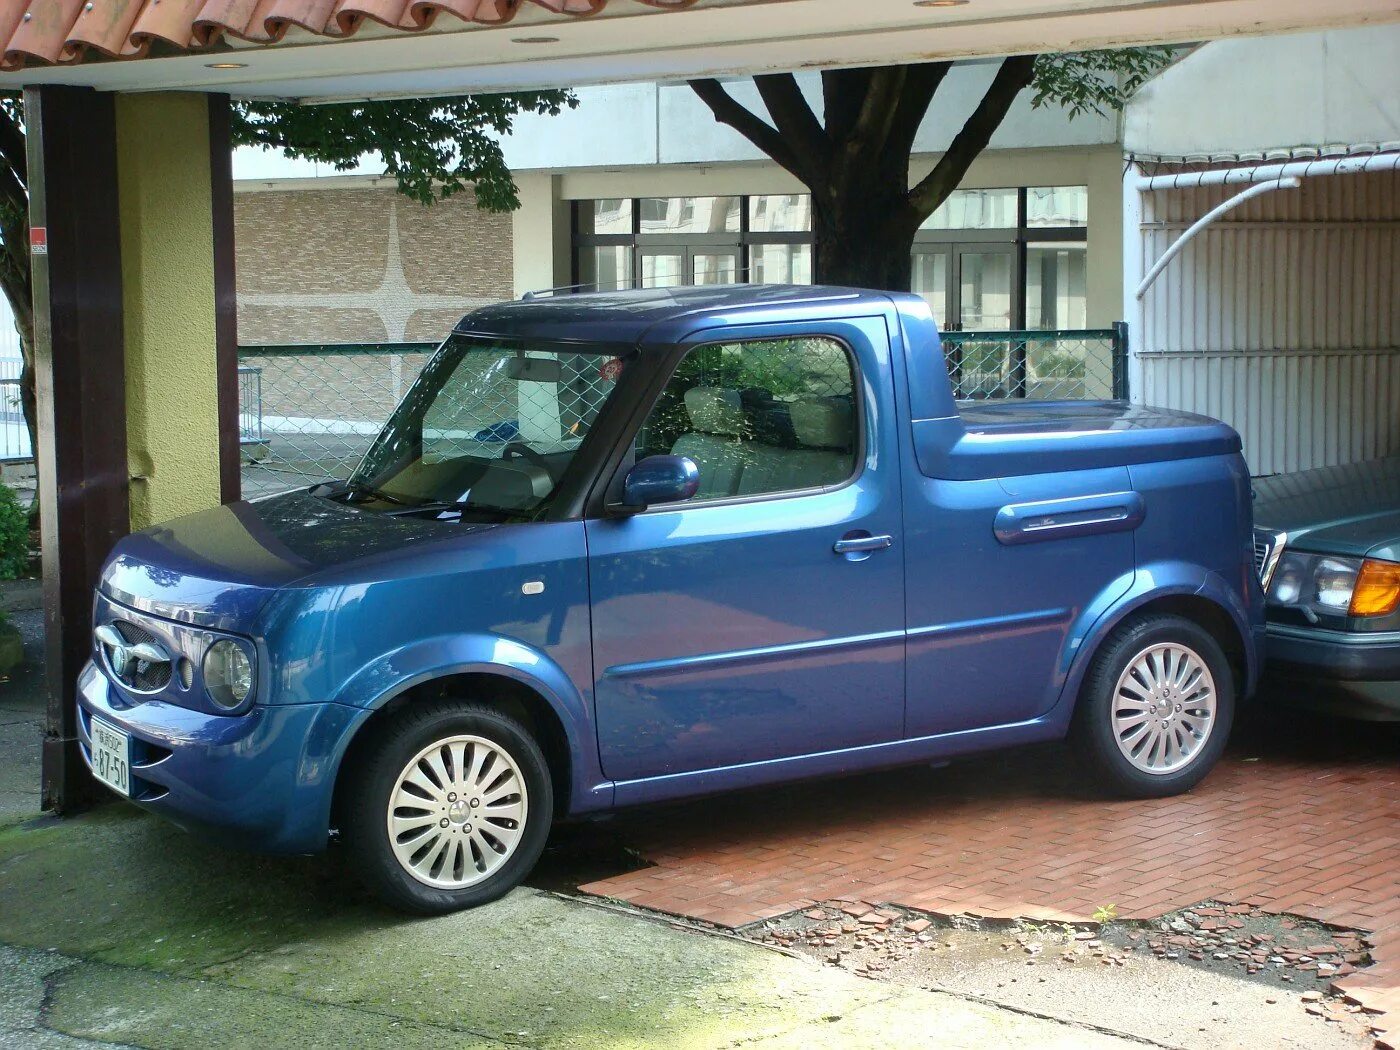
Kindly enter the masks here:
<path id="1" fill-rule="evenodd" d="M 118 95 L 132 528 L 218 505 L 209 101 Z"/>

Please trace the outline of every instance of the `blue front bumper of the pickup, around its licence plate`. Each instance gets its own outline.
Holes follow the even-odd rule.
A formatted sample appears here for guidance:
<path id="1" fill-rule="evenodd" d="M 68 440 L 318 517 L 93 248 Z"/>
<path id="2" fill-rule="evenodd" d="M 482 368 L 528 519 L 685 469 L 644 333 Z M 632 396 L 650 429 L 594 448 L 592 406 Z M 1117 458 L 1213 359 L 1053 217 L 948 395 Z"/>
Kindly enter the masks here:
<path id="1" fill-rule="evenodd" d="M 78 741 L 90 767 L 94 714 L 132 736 L 130 801 L 225 846 L 259 853 L 325 847 L 336 769 L 367 713 L 322 703 L 217 715 L 162 700 L 132 703 L 91 662 L 77 692 Z"/>

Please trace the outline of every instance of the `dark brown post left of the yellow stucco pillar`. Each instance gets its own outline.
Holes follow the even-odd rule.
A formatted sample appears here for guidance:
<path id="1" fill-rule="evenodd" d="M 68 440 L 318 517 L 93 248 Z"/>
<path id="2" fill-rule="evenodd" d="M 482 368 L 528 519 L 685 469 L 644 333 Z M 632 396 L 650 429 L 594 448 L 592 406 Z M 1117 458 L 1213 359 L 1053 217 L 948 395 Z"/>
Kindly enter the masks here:
<path id="1" fill-rule="evenodd" d="M 130 524 L 116 120 L 112 95 L 71 87 L 27 88 L 24 118 L 48 634 L 43 808 L 70 812 L 94 795 L 76 711 L 92 587 Z"/>

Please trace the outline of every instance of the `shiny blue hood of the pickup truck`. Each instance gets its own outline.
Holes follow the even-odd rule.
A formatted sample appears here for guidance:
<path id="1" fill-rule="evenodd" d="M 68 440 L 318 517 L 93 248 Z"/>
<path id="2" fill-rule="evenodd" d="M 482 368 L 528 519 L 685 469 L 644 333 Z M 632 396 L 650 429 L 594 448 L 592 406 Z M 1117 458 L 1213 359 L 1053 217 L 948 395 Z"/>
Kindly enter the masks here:
<path id="1" fill-rule="evenodd" d="M 493 528 L 395 518 L 308 491 L 232 503 L 120 540 L 101 591 L 122 605 L 183 623 L 242 630 L 287 588 L 332 568 Z"/>

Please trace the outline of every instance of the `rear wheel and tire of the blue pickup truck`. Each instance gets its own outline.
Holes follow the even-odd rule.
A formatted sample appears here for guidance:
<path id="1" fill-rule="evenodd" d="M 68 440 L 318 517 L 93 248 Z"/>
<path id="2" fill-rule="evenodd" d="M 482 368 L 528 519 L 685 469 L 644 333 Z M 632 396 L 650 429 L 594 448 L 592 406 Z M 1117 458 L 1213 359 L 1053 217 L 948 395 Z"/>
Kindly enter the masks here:
<path id="1" fill-rule="evenodd" d="M 1128 620 L 1093 655 L 1071 742 L 1124 798 L 1190 791 L 1225 750 L 1235 676 L 1215 637 L 1183 616 Z"/>

